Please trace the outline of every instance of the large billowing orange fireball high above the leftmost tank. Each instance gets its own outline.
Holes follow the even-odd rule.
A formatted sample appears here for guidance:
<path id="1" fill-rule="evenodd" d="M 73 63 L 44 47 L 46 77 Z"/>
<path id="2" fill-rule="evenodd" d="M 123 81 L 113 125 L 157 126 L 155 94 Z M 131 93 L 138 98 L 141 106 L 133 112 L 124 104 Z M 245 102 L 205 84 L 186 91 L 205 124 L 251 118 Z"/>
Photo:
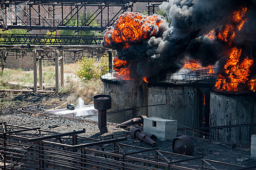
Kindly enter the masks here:
<path id="1" fill-rule="evenodd" d="M 159 15 L 145 16 L 136 12 L 125 12 L 113 27 L 109 27 L 104 35 L 105 46 L 112 47 L 113 44 L 140 43 L 155 36 L 159 26 L 164 21 Z"/>

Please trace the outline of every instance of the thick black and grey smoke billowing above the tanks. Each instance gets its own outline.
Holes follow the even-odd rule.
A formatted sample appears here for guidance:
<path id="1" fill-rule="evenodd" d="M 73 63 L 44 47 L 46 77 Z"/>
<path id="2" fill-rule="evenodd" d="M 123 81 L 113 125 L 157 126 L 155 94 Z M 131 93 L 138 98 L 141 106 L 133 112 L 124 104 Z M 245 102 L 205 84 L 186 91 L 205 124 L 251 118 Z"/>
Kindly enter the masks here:
<path id="1" fill-rule="evenodd" d="M 246 22 L 241 31 L 235 31 L 232 44 L 205 36 L 211 30 L 218 34 L 242 7 L 248 9 Z M 225 59 L 233 46 L 242 48 L 244 56 L 256 58 L 256 0 L 169 0 L 160 8 L 171 22 L 169 28 L 166 24 L 159 26 L 164 33 L 130 43 L 129 48 L 114 46 L 119 59 L 132 61 L 130 71 L 135 80 L 174 73 L 183 67 L 184 57 L 199 60 L 202 66 L 214 65 Z"/>

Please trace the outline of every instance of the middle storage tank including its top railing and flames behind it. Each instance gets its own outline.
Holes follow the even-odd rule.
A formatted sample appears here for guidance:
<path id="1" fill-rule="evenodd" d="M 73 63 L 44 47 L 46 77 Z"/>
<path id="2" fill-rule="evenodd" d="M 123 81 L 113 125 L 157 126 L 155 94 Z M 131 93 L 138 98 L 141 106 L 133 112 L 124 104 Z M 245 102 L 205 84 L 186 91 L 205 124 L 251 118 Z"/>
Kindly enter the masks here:
<path id="1" fill-rule="evenodd" d="M 193 60 L 179 72 L 167 75 L 165 81 L 148 84 L 148 105 L 154 105 L 148 107 L 148 117 L 175 119 L 181 128 L 208 127 L 213 76 L 212 67 L 201 67 Z M 192 135 L 191 131 L 186 133 Z"/>

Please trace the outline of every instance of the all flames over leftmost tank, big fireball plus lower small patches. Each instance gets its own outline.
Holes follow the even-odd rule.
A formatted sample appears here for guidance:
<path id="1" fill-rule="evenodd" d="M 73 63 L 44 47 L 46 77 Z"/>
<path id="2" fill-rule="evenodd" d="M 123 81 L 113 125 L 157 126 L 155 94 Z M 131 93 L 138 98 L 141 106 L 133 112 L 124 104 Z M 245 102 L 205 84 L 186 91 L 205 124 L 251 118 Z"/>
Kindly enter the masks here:
<path id="1" fill-rule="evenodd" d="M 106 29 L 104 46 L 112 49 L 128 49 L 132 43 L 141 43 L 152 36 L 161 36 L 167 29 L 161 27 L 166 21 L 159 15 L 147 16 L 136 12 L 125 12 L 115 21 L 114 25 Z M 115 57 L 115 77 L 130 80 L 130 63 Z M 148 83 L 146 77 L 141 77 Z"/>

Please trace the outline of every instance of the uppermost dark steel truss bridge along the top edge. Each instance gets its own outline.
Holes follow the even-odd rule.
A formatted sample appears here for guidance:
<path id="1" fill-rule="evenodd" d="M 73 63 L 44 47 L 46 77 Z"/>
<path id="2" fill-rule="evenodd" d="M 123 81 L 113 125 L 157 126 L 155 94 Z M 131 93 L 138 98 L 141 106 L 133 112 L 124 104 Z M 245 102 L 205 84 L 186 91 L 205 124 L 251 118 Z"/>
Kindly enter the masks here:
<path id="1" fill-rule="evenodd" d="M 0 0 L 0 29 L 26 29 L 26 30 L 76 30 L 76 31 L 104 31 L 111 26 L 117 17 L 128 11 L 132 11 L 133 4 L 136 2 L 147 2 L 148 14 L 150 8 L 153 13 L 155 7 L 165 0 Z M 25 5 L 28 12 L 24 10 L 20 4 Z M 50 11 L 47 6 L 53 9 Z M 55 9 L 61 8 L 61 17 L 56 17 Z M 71 7 L 71 12 L 67 15 L 63 12 L 63 7 Z M 87 7 L 96 7 L 97 10 L 87 16 Z M 117 7 L 119 11 L 110 17 L 110 8 Z M 22 18 L 17 12 L 17 8 L 21 9 L 27 16 Z M 36 12 L 37 17 L 32 16 L 32 12 Z M 84 12 L 85 18 L 79 25 L 79 14 Z M 9 17 L 11 12 L 14 18 Z M 50 17 L 43 17 L 43 13 L 47 13 Z M 107 14 L 107 15 L 104 15 Z M 74 18 L 76 22 L 71 23 Z M 95 26 L 95 23 L 97 26 Z"/>

